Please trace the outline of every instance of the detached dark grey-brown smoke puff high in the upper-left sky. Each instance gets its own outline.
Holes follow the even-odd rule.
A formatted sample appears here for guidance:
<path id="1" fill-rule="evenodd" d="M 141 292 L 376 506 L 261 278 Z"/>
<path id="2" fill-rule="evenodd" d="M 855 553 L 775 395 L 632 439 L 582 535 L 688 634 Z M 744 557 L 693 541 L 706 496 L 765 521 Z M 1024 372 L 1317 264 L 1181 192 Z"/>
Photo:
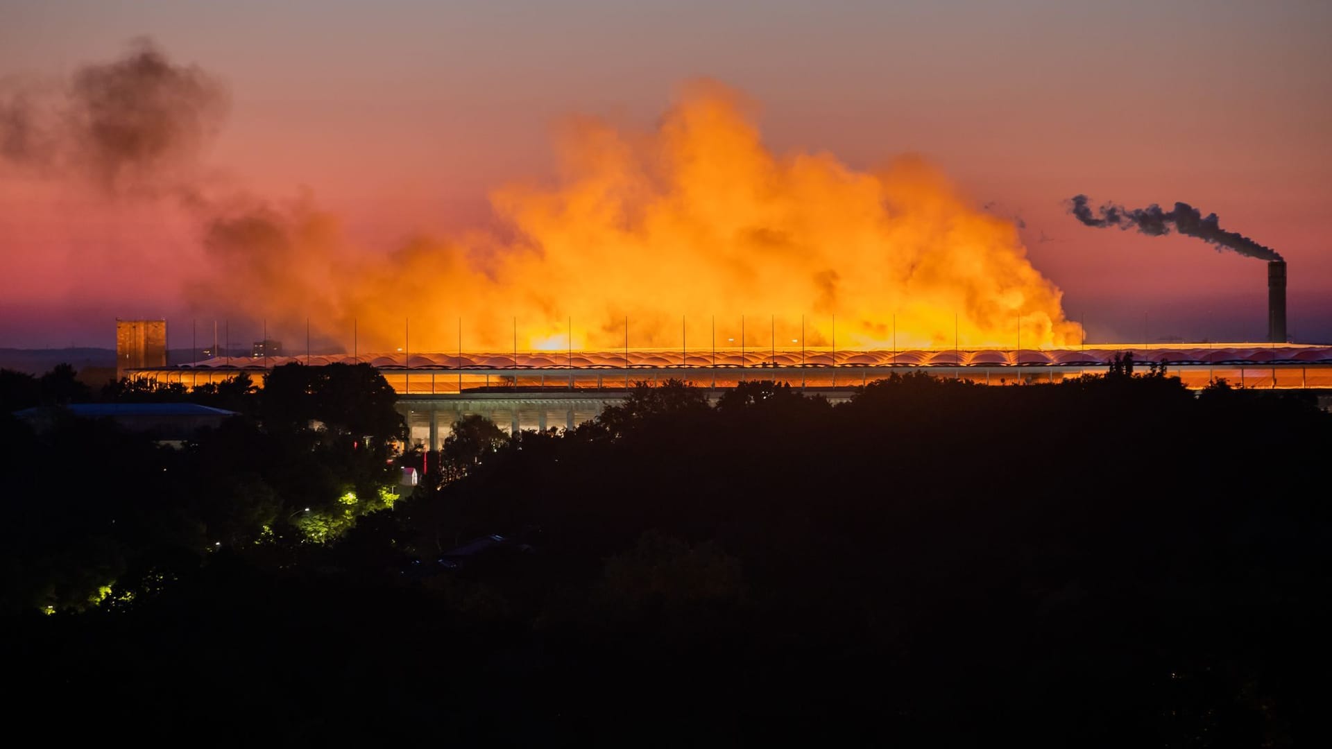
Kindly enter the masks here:
<path id="1" fill-rule="evenodd" d="M 139 40 L 67 81 L 0 88 L 0 160 L 112 195 L 188 188 L 226 108 L 216 79 Z"/>

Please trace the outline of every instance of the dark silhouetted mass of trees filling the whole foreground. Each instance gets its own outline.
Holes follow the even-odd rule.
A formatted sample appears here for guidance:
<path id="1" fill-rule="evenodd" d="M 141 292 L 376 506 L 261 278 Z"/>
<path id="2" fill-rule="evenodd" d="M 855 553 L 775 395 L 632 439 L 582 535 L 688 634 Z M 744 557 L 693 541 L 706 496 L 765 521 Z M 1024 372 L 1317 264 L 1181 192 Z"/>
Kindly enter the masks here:
<path id="1" fill-rule="evenodd" d="M 894 376 L 835 406 L 641 386 L 571 432 L 469 417 L 412 497 L 316 536 L 305 502 L 336 517 L 344 485 L 386 481 L 329 434 L 401 422 L 352 401 L 373 372 L 286 376 L 176 452 L 5 422 L 5 590 L 33 560 L 115 573 L 96 605 L 12 606 L 32 709 L 302 744 L 1328 738 L 1332 418 L 1301 394 L 1127 367 Z M 270 498 L 228 513 L 242 497 Z M 103 505 L 137 517 L 120 564 L 97 556 Z"/>

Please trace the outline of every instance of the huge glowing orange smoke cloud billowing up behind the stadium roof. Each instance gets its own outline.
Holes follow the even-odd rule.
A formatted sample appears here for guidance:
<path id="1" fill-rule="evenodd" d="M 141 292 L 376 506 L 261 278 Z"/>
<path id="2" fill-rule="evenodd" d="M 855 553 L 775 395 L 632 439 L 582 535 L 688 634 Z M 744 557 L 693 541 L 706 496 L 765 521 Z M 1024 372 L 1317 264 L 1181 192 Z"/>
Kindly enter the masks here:
<path id="1" fill-rule="evenodd" d="M 1080 343 L 1010 220 L 915 157 L 862 172 L 829 153 L 774 155 L 749 109 L 698 83 L 653 132 L 578 120 L 553 187 L 492 195 L 497 229 L 418 237 L 388 257 L 352 247 L 309 204 L 232 212 L 209 229 L 214 268 L 197 291 L 269 325 L 309 319 L 348 344 L 354 325 L 361 351 L 402 347 L 405 317 L 413 352 L 614 351 L 626 319 L 631 347 L 675 351 L 714 337 L 733 348 Z"/>

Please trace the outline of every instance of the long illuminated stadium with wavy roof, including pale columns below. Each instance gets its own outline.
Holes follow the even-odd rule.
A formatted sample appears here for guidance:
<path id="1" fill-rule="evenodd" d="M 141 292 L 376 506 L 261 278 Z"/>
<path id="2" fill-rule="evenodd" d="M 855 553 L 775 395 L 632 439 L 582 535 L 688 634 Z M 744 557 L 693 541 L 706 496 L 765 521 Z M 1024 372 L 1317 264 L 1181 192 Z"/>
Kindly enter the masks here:
<path id="1" fill-rule="evenodd" d="M 289 363 L 370 364 L 398 392 L 413 441 L 437 448 L 464 414 L 480 413 L 509 430 L 573 426 L 623 400 L 626 388 L 637 382 L 683 380 L 717 397 L 738 382 L 777 380 L 836 401 L 851 397 L 858 386 L 906 372 L 988 385 L 1059 382 L 1104 373 L 1124 352 L 1143 368 L 1166 361 L 1168 373 L 1193 389 L 1225 378 L 1247 388 L 1332 392 L 1332 347 L 1297 344 L 312 355 L 216 357 L 137 369 L 131 376 L 193 386 L 241 372 L 261 382 L 266 369 Z"/>

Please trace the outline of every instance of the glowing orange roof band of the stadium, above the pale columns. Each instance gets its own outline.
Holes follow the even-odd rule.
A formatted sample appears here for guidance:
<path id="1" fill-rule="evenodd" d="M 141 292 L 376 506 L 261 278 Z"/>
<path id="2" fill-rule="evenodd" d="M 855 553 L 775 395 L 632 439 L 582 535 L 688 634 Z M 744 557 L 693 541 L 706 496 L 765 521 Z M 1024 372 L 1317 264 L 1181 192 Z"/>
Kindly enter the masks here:
<path id="1" fill-rule="evenodd" d="M 574 390 L 615 389 L 633 382 L 675 378 L 706 388 L 733 388 L 746 380 L 778 380 L 809 388 L 855 386 L 894 372 L 924 372 L 976 384 L 1056 382 L 1096 373 L 1124 351 L 1142 351 L 1136 364 L 1168 363 L 1171 376 L 1187 388 L 1205 388 L 1215 378 L 1259 388 L 1332 386 L 1332 347 L 1301 344 L 1096 344 L 1064 349 L 902 349 L 844 351 L 763 348 L 642 349 L 563 352 L 366 352 L 310 356 L 220 357 L 131 376 L 186 386 L 221 382 L 250 371 L 262 386 L 264 369 L 290 363 L 369 364 L 400 394 L 465 394 L 492 386 Z M 715 361 L 715 364 L 714 364 Z"/>

